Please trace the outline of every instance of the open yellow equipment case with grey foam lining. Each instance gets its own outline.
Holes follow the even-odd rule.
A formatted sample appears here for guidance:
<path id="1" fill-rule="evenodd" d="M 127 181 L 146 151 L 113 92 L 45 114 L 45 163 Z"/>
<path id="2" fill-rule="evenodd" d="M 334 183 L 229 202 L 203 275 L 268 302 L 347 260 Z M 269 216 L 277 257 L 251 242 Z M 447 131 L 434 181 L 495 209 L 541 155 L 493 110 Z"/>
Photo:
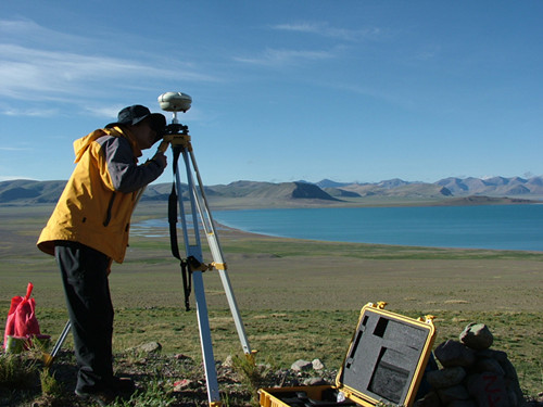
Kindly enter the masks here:
<path id="1" fill-rule="evenodd" d="M 336 385 L 261 389 L 261 407 L 409 407 L 430 358 L 432 316 L 413 319 L 365 305 Z"/>

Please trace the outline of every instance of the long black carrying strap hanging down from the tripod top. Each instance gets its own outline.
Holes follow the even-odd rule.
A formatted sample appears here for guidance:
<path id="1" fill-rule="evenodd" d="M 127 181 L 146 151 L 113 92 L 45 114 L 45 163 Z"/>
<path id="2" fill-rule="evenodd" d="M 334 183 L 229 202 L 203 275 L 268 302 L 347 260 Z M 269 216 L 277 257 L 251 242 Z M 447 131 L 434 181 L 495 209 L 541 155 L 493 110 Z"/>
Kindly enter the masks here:
<path id="1" fill-rule="evenodd" d="M 185 260 L 181 258 L 179 254 L 179 243 L 177 239 L 177 192 L 175 188 L 176 171 L 177 164 L 179 162 L 179 155 L 181 153 L 181 149 L 177 147 L 173 147 L 174 153 L 174 182 L 172 183 L 172 192 L 168 198 L 168 224 L 169 224 L 169 245 L 172 246 L 172 254 L 175 258 L 177 258 L 181 266 L 181 276 L 182 276 L 182 291 L 185 294 L 185 309 L 190 310 L 190 291 L 192 290 L 192 270 L 191 270 L 191 262 L 189 259 Z"/>

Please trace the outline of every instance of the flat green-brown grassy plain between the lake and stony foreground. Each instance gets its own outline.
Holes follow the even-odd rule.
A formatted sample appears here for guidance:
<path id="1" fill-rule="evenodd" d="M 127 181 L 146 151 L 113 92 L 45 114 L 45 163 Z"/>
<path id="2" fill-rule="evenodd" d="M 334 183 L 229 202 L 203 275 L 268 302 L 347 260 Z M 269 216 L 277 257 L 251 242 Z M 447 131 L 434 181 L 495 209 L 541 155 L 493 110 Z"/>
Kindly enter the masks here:
<path id="1" fill-rule="evenodd" d="M 41 331 L 54 341 L 66 321 L 64 296 L 54 259 L 35 246 L 51 209 L 0 207 L 0 315 L 8 315 L 11 297 L 24 295 L 31 281 Z M 165 217 L 165 205 L 140 204 L 134 221 Z M 362 306 L 386 301 L 389 310 L 435 316 L 437 344 L 456 339 L 468 322 L 487 323 L 494 347 L 507 352 L 522 387 L 532 395 L 543 391 L 543 253 L 316 242 L 229 229 L 218 233 L 261 361 L 288 367 L 299 358 L 320 358 L 339 367 Z M 179 271 L 167 231 L 131 237 L 125 263 L 114 265 L 111 275 L 115 349 L 157 341 L 167 353 L 200 357 L 197 316 L 184 309 Z M 215 356 L 239 354 L 218 276 L 206 272 L 204 284 Z"/>

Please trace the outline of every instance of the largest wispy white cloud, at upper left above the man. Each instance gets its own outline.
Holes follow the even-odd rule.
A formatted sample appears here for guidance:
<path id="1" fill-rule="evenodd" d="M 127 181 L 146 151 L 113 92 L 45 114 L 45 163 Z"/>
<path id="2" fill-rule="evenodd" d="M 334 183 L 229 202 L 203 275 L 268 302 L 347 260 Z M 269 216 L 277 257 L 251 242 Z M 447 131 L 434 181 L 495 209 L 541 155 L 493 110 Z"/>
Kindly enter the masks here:
<path id="1" fill-rule="evenodd" d="M 119 89 L 151 88 L 164 79 L 219 80 L 171 55 L 111 56 L 114 51 L 108 51 L 105 39 L 96 38 L 55 31 L 29 20 L 0 20 L 0 111 L 16 115 L 24 110 L 14 107 L 13 101 L 77 103 L 84 98 L 88 103 Z M 42 115 L 38 110 L 25 114 Z"/>

